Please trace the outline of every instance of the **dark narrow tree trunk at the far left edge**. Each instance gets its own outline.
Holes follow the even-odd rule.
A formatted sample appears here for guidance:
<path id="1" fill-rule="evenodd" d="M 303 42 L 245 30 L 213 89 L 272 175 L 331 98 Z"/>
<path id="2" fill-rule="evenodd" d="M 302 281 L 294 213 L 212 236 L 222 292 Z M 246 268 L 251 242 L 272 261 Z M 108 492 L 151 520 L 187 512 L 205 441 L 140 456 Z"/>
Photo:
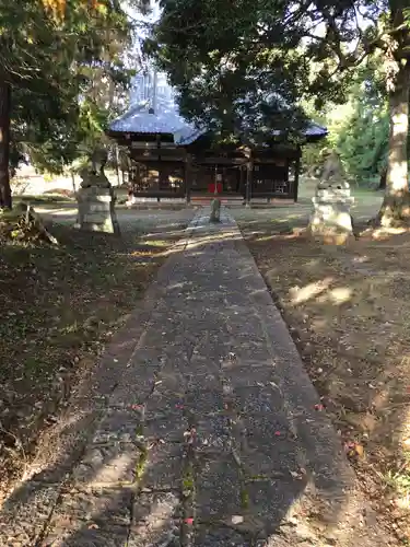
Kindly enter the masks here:
<path id="1" fill-rule="evenodd" d="M 10 84 L 0 82 L 0 208 L 11 209 L 10 156 Z"/>

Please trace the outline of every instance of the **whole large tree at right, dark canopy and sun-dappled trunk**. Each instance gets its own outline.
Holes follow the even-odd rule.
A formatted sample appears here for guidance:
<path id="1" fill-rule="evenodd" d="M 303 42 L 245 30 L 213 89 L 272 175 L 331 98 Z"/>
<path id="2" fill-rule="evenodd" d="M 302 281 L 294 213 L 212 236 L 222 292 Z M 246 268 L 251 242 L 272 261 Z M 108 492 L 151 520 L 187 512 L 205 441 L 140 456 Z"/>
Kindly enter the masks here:
<path id="1" fill-rule="evenodd" d="M 303 97 L 343 101 L 354 70 L 379 50 L 390 127 L 379 220 L 410 218 L 408 0 L 163 0 L 162 8 L 147 50 L 168 72 L 183 113 L 236 135 L 290 129 Z"/>

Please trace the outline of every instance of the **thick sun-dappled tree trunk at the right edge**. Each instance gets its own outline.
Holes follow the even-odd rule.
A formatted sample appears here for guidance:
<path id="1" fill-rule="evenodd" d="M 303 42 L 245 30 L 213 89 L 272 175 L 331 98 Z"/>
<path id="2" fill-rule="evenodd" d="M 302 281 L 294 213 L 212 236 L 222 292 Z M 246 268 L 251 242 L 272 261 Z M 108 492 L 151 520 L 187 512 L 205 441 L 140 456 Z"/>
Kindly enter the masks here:
<path id="1" fill-rule="evenodd" d="M 386 174 L 386 194 L 378 213 L 384 226 L 410 220 L 410 193 L 407 141 L 409 133 L 410 63 L 399 65 L 395 86 L 389 94 L 390 135 Z"/>

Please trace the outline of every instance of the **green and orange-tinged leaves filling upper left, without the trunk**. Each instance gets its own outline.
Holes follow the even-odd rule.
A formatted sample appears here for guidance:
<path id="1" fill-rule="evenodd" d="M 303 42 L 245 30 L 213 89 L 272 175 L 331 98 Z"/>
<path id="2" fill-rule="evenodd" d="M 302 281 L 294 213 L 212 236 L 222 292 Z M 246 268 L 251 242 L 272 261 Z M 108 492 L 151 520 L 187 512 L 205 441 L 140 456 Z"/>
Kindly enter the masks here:
<path id="1" fill-rule="evenodd" d="M 59 173 L 121 108 L 132 27 L 119 2 L 2 2 L 0 79 L 12 88 L 11 166 Z"/>

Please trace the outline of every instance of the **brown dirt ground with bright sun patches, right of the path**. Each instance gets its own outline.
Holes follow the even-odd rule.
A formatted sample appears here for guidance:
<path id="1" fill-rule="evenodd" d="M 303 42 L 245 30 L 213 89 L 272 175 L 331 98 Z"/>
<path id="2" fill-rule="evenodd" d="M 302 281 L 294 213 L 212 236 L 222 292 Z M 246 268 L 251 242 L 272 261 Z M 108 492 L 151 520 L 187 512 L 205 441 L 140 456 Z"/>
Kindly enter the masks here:
<path id="1" fill-rule="evenodd" d="M 234 214 L 363 488 L 410 545 L 410 234 L 314 243 L 300 230 L 309 191 Z M 380 200 L 356 193 L 362 230 Z"/>

